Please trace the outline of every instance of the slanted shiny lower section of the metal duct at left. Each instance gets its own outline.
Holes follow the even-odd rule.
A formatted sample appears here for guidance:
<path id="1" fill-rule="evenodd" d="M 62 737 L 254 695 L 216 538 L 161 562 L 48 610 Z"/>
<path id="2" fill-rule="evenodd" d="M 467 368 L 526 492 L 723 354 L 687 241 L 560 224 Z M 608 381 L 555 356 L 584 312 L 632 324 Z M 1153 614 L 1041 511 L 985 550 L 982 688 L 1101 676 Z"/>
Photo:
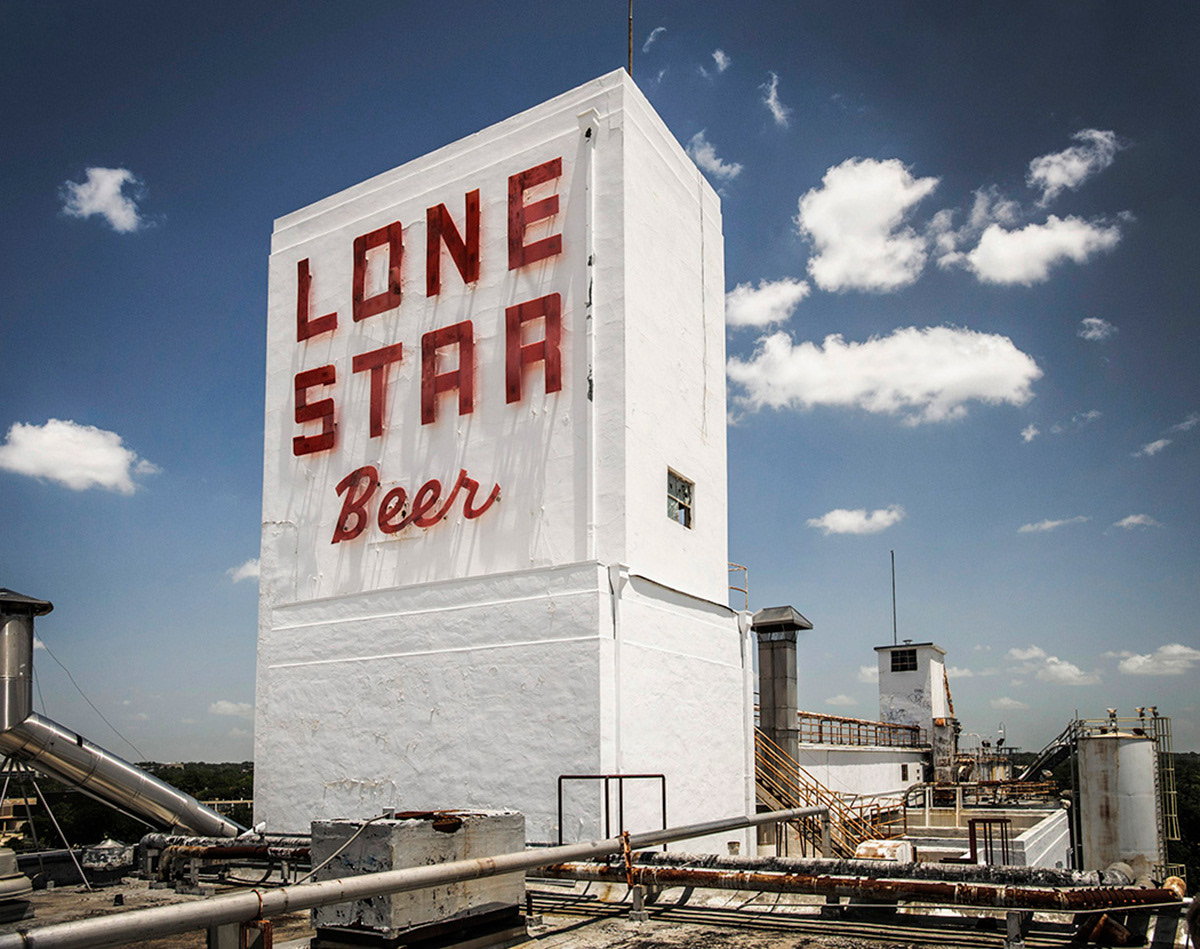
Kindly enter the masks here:
<path id="1" fill-rule="evenodd" d="M 0 732 L 0 753 L 77 787 L 118 810 L 168 828 L 234 837 L 241 824 L 205 807 L 191 794 L 160 781 L 83 735 L 31 711 Z"/>

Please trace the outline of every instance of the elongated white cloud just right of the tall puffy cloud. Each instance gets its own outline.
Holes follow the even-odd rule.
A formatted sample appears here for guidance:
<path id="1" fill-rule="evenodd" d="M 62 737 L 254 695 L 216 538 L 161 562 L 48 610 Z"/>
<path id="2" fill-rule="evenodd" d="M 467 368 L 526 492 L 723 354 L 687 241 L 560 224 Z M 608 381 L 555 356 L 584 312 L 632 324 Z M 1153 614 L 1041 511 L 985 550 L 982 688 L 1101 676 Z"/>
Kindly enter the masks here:
<path id="1" fill-rule="evenodd" d="M 1112 250 L 1120 240 L 1121 229 L 1116 224 L 1050 215 L 1044 224 L 1026 224 L 1016 230 L 989 224 L 979 244 L 962 260 L 984 283 L 1030 287 L 1048 280 L 1054 265 L 1064 260 L 1084 264 L 1094 254 Z"/>

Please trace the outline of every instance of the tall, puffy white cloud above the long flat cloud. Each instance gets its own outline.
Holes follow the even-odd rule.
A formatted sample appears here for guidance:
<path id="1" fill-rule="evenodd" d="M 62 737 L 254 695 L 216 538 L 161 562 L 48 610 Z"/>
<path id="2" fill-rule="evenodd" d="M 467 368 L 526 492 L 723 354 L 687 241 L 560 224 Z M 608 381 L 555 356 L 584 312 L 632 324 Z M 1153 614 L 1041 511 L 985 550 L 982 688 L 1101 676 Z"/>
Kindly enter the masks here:
<path id="1" fill-rule="evenodd" d="M 926 239 L 905 216 L 937 187 L 896 158 L 848 158 L 799 200 L 797 223 L 816 254 L 809 274 L 823 290 L 883 293 L 907 287 L 925 266 Z"/>

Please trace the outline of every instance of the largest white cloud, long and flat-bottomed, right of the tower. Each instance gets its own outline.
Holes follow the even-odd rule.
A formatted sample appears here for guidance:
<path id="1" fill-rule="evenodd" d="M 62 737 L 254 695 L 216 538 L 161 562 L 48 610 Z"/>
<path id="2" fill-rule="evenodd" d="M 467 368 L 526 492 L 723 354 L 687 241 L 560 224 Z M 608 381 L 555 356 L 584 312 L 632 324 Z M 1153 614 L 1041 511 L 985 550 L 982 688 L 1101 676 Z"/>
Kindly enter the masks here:
<path id="1" fill-rule="evenodd" d="M 737 401 L 752 409 L 841 406 L 904 413 L 917 425 L 959 419 L 971 401 L 1024 406 L 1042 370 L 1007 336 L 908 326 L 864 343 L 840 335 L 793 343 L 775 332 L 749 360 L 731 359 L 728 376 L 745 390 Z"/>

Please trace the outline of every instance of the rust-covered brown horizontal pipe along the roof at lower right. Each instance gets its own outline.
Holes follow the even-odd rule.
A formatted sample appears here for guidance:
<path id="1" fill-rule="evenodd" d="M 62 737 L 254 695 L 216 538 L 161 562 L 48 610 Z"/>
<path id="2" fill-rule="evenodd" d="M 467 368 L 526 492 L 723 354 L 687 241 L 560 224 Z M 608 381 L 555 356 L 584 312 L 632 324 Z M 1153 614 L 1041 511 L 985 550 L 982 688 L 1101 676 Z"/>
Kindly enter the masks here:
<path id="1" fill-rule="evenodd" d="M 804 893 L 818 896 L 889 902 L 914 901 L 954 906 L 986 906 L 1004 909 L 1080 912 L 1117 906 L 1178 903 L 1174 889 L 1136 887 L 1052 889 L 989 883 L 952 883 L 918 879 L 868 879 L 864 877 L 762 873 L 751 870 L 696 870 L 682 866 L 610 866 L 596 863 L 563 863 L 545 867 L 541 876 L 600 883 L 634 883 L 648 887 L 704 887 L 707 889 Z"/>

